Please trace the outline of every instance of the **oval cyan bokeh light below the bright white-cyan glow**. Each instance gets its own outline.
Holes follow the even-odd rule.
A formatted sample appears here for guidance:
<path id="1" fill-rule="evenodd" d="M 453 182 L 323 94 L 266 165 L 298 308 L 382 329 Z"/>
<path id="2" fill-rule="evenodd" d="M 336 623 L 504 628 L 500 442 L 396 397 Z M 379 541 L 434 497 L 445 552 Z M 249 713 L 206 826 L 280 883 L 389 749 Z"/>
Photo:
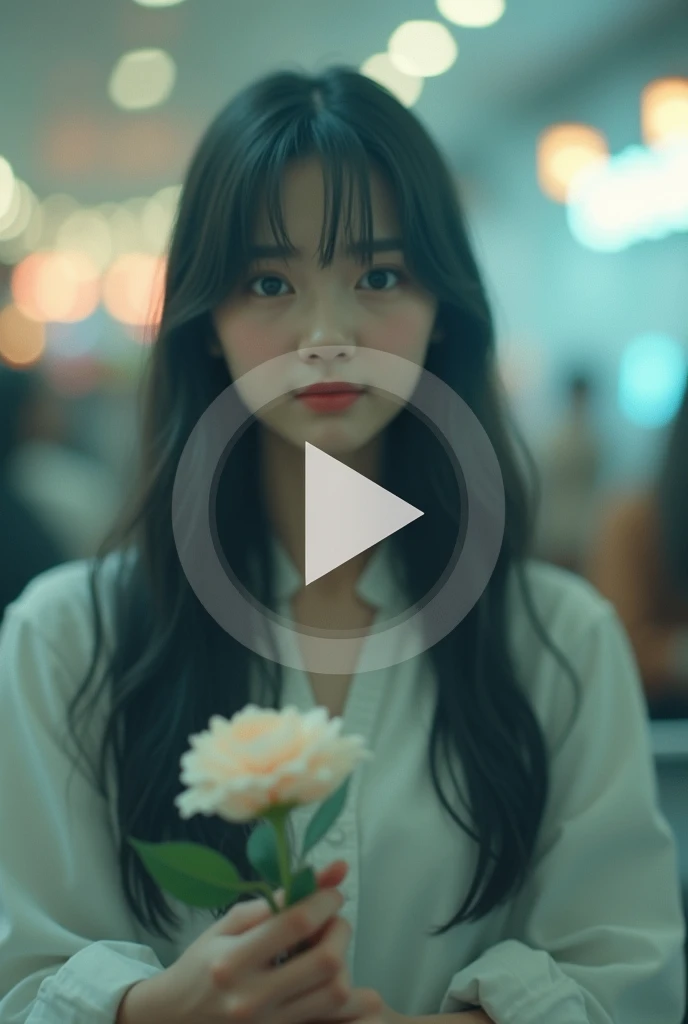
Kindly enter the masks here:
<path id="1" fill-rule="evenodd" d="M 688 352 L 675 338 L 645 334 L 621 356 L 618 404 L 640 427 L 664 427 L 679 411 L 688 371 Z"/>

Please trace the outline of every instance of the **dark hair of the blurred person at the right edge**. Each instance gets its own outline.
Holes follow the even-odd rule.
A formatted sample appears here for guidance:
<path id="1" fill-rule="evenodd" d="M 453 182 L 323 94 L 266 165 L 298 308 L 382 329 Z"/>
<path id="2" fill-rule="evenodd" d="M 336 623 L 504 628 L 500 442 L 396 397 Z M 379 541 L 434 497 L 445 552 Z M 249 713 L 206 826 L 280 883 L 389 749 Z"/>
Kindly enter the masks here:
<path id="1" fill-rule="evenodd" d="M 688 598 L 688 377 L 656 485 L 660 545 L 677 590 Z"/>

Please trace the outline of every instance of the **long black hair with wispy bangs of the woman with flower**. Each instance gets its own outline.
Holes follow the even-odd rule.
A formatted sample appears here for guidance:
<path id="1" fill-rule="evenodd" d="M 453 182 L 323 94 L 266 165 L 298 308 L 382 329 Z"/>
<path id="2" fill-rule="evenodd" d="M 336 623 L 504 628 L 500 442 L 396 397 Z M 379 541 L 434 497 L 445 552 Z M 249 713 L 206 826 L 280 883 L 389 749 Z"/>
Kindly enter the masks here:
<path id="1" fill-rule="evenodd" d="M 145 375 L 140 481 L 133 507 L 93 562 L 96 649 L 69 709 L 70 729 L 81 746 L 77 707 L 98 675 L 104 645 L 97 575 L 106 554 L 126 549 L 131 557 L 121 558 L 115 589 L 116 642 L 99 684 L 109 687 L 110 706 L 96 780 L 104 796 L 112 755 L 123 888 L 139 922 L 162 935 L 168 935 L 163 920 L 178 927 L 179 919 L 127 837 L 212 846 L 230 857 L 245 878 L 255 878 L 245 855 L 247 827 L 204 815 L 182 820 L 173 803 L 181 790 L 179 760 L 189 734 L 206 729 L 212 715 L 229 718 L 249 701 L 255 655 L 215 623 L 185 579 L 174 544 L 171 498 L 191 429 L 231 383 L 224 362 L 209 352 L 216 342 L 212 310 L 247 272 L 261 197 L 277 241 L 290 245 L 280 183 L 291 161 L 309 157 L 321 162 L 331 198 L 321 265 L 333 258 L 343 212 L 349 224 L 354 189 L 362 211 L 358 236 L 370 246 L 371 167 L 393 189 L 408 265 L 438 300 L 436 323 L 444 340 L 428 346 L 426 368 L 450 385 L 482 424 L 506 490 L 506 530 L 489 584 L 461 625 L 429 652 L 437 677 L 428 743 L 433 784 L 446 811 L 478 844 L 470 891 L 435 934 L 478 920 L 518 890 L 549 792 L 546 740 L 509 649 L 507 584 L 512 570 L 521 581 L 533 637 L 566 663 L 538 620 L 523 571 L 529 492 L 512 447 L 496 371 L 492 319 L 457 183 L 416 117 L 369 78 L 347 68 L 316 76 L 277 72 L 251 85 L 218 115 L 183 184 L 162 321 Z M 346 183 L 354 187 L 347 191 Z M 362 259 L 372 259 L 370 249 Z M 249 556 L 258 557 L 262 572 L 256 593 L 271 606 L 269 530 L 257 471 L 259 427 L 254 420 L 226 460 L 216 521 L 222 524 L 224 554 L 240 580 L 250 580 Z M 397 535 L 396 550 L 414 603 L 444 570 L 461 531 L 461 494 L 441 445 L 407 408 L 388 426 L 386 440 L 386 485 L 412 503 L 422 501 L 426 513 Z M 260 670 L 266 701 L 278 707 L 280 667 L 263 659 Z M 463 763 L 471 823 L 457 813 L 454 798 L 461 794 L 454 769 L 454 794 L 440 781 L 442 764 L 456 755 Z"/>

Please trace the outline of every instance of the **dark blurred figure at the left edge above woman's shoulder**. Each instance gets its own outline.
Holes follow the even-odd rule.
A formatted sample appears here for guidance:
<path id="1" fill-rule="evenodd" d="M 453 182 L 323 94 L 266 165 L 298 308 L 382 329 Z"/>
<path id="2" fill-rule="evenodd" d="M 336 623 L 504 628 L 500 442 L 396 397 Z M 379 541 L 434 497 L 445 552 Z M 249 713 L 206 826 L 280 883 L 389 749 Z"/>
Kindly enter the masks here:
<path id="1" fill-rule="evenodd" d="M 0 366 L 0 618 L 34 577 L 67 560 L 59 538 L 16 492 L 12 455 L 32 436 L 60 429 L 59 410 L 36 371 Z"/>

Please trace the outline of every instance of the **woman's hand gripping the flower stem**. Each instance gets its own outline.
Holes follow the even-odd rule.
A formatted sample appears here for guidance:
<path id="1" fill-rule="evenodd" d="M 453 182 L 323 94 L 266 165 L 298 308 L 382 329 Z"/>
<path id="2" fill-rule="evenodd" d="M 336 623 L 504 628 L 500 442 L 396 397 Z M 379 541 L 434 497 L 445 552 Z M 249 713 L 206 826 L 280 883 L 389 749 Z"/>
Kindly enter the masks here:
<path id="1" fill-rule="evenodd" d="M 238 903 L 165 971 L 133 985 L 118 1024 L 305 1024 L 344 1007 L 351 994 L 337 885 L 346 862 L 317 878 L 319 891 L 272 914 L 264 900 Z M 284 907 L 284 892 L 275 894 Z M 275 967 L 281 954 L 291 953 Z"/>

